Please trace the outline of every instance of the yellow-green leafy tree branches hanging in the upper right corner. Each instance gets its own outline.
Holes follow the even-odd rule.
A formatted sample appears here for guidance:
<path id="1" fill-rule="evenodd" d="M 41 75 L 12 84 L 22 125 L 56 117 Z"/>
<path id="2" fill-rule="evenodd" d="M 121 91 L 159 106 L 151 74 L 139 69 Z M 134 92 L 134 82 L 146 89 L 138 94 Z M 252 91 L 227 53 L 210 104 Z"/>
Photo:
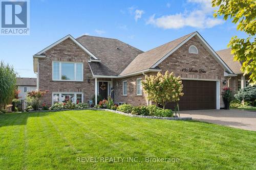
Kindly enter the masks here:
<path id="1" fill-rule="evenodd" d="M 237 30 L 245 32 L 247 38 L 238 38 L 234 36 L 228 43 L 231 47 L 231 53 L 234 60 L 242 63 L 241 70 L 244 76 L 249 77 L 250 85 L 256 84 L 256 3 L 255 0 L 212 0 L 212 7 L 219 7 L 215 11 L 214 17 L 224 16 L 227 20 L 237 24 Z"/>

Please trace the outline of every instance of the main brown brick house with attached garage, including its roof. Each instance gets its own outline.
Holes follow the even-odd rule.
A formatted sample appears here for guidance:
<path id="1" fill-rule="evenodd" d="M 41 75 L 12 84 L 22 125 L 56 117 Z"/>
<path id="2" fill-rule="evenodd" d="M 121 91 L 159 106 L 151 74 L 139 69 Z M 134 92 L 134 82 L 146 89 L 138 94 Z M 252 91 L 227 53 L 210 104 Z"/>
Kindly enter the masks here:
<path id="1" fill-rule="evenodd" d="M 198 32 L 147 52 L 117 39 L 67 35 L 35 54 L 33 61 L 37 88 L 50 90 L 44 96 L 47 105 L 88 102 L 95 94 L 106 99 L 112 87 L 115 103 L 147 105 L 144 75 L 169 70 L 183 81 L 181 110 L 220 109 L 225 76 L 233 75 Z"/>

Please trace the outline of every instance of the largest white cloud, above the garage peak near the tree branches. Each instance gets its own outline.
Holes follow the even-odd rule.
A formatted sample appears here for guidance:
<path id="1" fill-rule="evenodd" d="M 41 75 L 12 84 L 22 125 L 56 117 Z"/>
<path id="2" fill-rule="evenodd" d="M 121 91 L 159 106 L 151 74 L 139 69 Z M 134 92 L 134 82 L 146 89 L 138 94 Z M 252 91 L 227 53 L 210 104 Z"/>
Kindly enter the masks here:
<path id="1" fill-rule="evenodd" d="M 155 18 L 155 14 L 148 20 L 147 24 L 155 25 L 163 29 L 180 29 L 183 27 L 194 28 L 212 28 L 224 23 L 222 19 L 213 18 L 212 14 L 214 8 L 211 7 L 211 1 L 208 0 L 188 0 L 190 3 L 196 3 L 199 5 L 197 10 L 184 11 L 183 13 L 177 13 L 173 15 L 164 15 Z"/>

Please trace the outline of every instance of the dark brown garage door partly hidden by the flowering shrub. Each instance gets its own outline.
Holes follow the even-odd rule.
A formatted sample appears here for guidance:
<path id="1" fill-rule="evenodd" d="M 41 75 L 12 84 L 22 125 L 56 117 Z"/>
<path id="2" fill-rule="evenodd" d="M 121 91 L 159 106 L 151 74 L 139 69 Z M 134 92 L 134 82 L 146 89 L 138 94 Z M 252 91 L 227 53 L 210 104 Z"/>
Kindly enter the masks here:
<path id="1" fill-rule="evenodd" d="M 180 98 L 180 110 L 216 109 L 216 82 L 182 80 L 184 95 Z M 166 108 L 174 110 L 175 104 Z"/>

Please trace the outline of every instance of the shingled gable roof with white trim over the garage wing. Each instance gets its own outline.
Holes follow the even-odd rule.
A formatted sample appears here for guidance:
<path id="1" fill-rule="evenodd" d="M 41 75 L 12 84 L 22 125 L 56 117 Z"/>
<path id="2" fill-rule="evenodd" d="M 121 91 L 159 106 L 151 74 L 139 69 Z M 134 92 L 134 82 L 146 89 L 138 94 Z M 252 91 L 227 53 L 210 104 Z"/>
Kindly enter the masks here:
<path id="1" fill-rule="evenodd" d="M 174 41 L 170 41 L 161 46 L 153 48 L 150 51 L 138 55 L 120 74 L 120 76 L 131 74 L 140 70 L 155 68 L 159 63 L 174 53 L 180 46 L 187 42 L 192 37 L 197 36 L 206 50 L 220 63 L 220 65 L 228 72 L 232 70 L 222 61 L 216 52 L 209 46 L 198 32 L 187 34 Z"/>

